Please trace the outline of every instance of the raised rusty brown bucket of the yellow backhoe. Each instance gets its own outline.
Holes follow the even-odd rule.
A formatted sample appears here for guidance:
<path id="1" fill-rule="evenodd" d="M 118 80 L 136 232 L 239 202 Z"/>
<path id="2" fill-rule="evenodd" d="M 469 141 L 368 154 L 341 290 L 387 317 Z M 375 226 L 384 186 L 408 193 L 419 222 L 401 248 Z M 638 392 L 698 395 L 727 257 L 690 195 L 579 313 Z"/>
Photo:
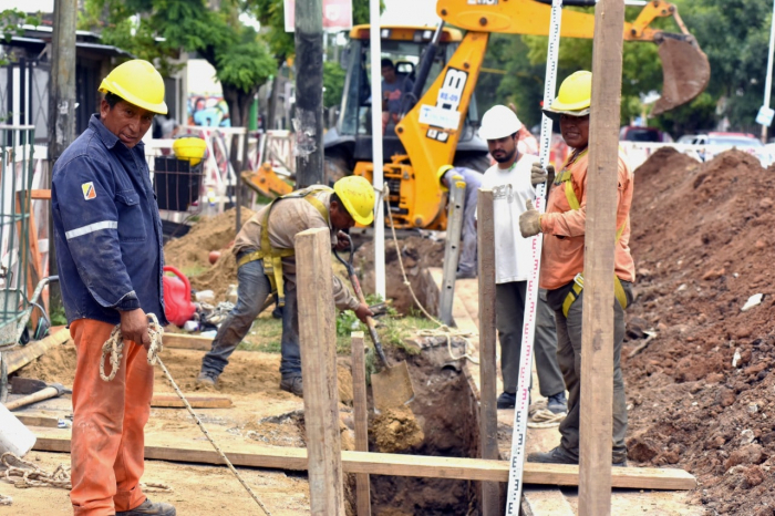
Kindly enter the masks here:
<path id="1" fill-rule="evenodd" d="M 665 37 L 659 44 L 659 55 L 664 84 L 651 116 L 691 102 L 711 80 L 711 63 L 696 43 Z"/>

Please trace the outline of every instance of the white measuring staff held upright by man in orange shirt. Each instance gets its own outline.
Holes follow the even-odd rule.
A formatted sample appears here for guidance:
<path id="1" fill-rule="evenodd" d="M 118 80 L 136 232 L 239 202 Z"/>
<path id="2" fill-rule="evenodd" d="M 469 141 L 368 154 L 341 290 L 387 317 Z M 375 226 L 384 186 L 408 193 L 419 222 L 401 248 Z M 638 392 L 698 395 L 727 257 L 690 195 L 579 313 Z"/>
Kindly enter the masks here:
<path id="1" fill-rule="evenodd" d="M 562 0 L 551 1 L 551 20 L 549 22 L 549 48 L 546 60 L 546 80 L 544 82 L 544 105 L 551 105 L 555 99 L 557 80 L 557 56 L 560 45 L 560 20 Z M 544 167 L 549 164 L 551 151 L 551 120 L 544 115 L 541 120 L 540 162 Z M 546 209 L 546 184 L 536 187 L 536 209 Z M 527 281 L 525 296 L 525 319 L 523 326 L 523 347 L 519 355 L 519 384 L 514 407 L 514 433 L 512 434 L 512 458 L 508 471 L 508 494 L 506 496 L 506 515 L 519 514 L 519 500 L 523 492 L 523 464 L 525 461 L 525 441 L 527 438 L 527 410 L 530 400 L 530 365 L 533 363 L 533 341 L 536 334 L 536 306 L 538 303 L 538 274 L 541 265 L 542 236 L 530 239 L 533 251 L 533 271 Z"/>

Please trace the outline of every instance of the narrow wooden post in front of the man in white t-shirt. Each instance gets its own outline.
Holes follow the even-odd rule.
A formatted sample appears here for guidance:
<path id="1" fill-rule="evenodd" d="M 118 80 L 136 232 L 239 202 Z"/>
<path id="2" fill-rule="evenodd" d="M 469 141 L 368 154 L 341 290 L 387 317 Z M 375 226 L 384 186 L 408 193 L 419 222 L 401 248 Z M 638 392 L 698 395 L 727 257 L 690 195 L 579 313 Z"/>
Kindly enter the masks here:
<path id="1" fill-rule="evenodd" d="M 498 460 L 497 371 L 495 367 L 495 224 L 493 190 L 479 188 L 477 248 L 479 252 L 479 378 L 482 379 L 479 443 L 482 458 Z M 484 516 L 500 514 L 500 489 L 495 482 L 482 483 Z"/>

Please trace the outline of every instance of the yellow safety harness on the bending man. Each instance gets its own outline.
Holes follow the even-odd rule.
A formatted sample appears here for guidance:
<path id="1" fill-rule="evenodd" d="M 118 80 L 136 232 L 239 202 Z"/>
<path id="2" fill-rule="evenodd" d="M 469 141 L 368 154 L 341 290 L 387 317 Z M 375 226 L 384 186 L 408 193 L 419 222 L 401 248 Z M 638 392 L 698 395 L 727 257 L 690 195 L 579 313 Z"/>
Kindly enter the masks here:
<path id="1" fill-rule="evenodd" d="M 321 192 L 333 192 L 332 188 L 328 186 L 316 186 L 312 188 L 306 188 L 291 194 L 283 195 L 271 202 L 266 213 L 264 214 L 264 219 L 261 220 L 261 248 L 257 251 L 252 251 L 245 255 L 237 261 L 237 267 L 242 267 L 245 264 L 250 261 L 262 260 L 264 262 L 264 274 L 269 278 L 269 283 L 271 285 L 272 293 L 277 292 L 278 305 L 285 307 L 286 305 L 286 291 L 283 289 L 282 280 L 282 258 L 293 256 L 296 249 L 281 249 L 272 247 L 269 242 L 269 214 L 271 214 L 272 208 L 277 203 L 283 199 L 304 199 L 314 208 L 320 211 L 320 215 L 329 223 L 329 210 L 326 208 L 323 203 L 316 197 L 317 194 Z"/>

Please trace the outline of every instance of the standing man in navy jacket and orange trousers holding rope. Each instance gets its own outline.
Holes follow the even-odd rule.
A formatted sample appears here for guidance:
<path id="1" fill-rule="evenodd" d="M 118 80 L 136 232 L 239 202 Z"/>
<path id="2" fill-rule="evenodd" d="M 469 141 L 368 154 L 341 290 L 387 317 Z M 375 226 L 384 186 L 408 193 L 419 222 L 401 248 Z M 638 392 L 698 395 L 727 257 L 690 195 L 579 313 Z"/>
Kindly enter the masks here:
<path id="1" fill-rule="evenodd" d="M 162 221 L 141 138 L 154 114 L 167 113 L 164 80 L 133 60 L 100 91 L 100 113 L 56 161 L 51 187 L 62 301 L 78 352 L 70 499 L 79 516 L 174 516 L 140 486 L 154 382 L 146 314 L 167 322 Z M 123 357 L 105 382 L 102 347 L 118 323 Z"/>

